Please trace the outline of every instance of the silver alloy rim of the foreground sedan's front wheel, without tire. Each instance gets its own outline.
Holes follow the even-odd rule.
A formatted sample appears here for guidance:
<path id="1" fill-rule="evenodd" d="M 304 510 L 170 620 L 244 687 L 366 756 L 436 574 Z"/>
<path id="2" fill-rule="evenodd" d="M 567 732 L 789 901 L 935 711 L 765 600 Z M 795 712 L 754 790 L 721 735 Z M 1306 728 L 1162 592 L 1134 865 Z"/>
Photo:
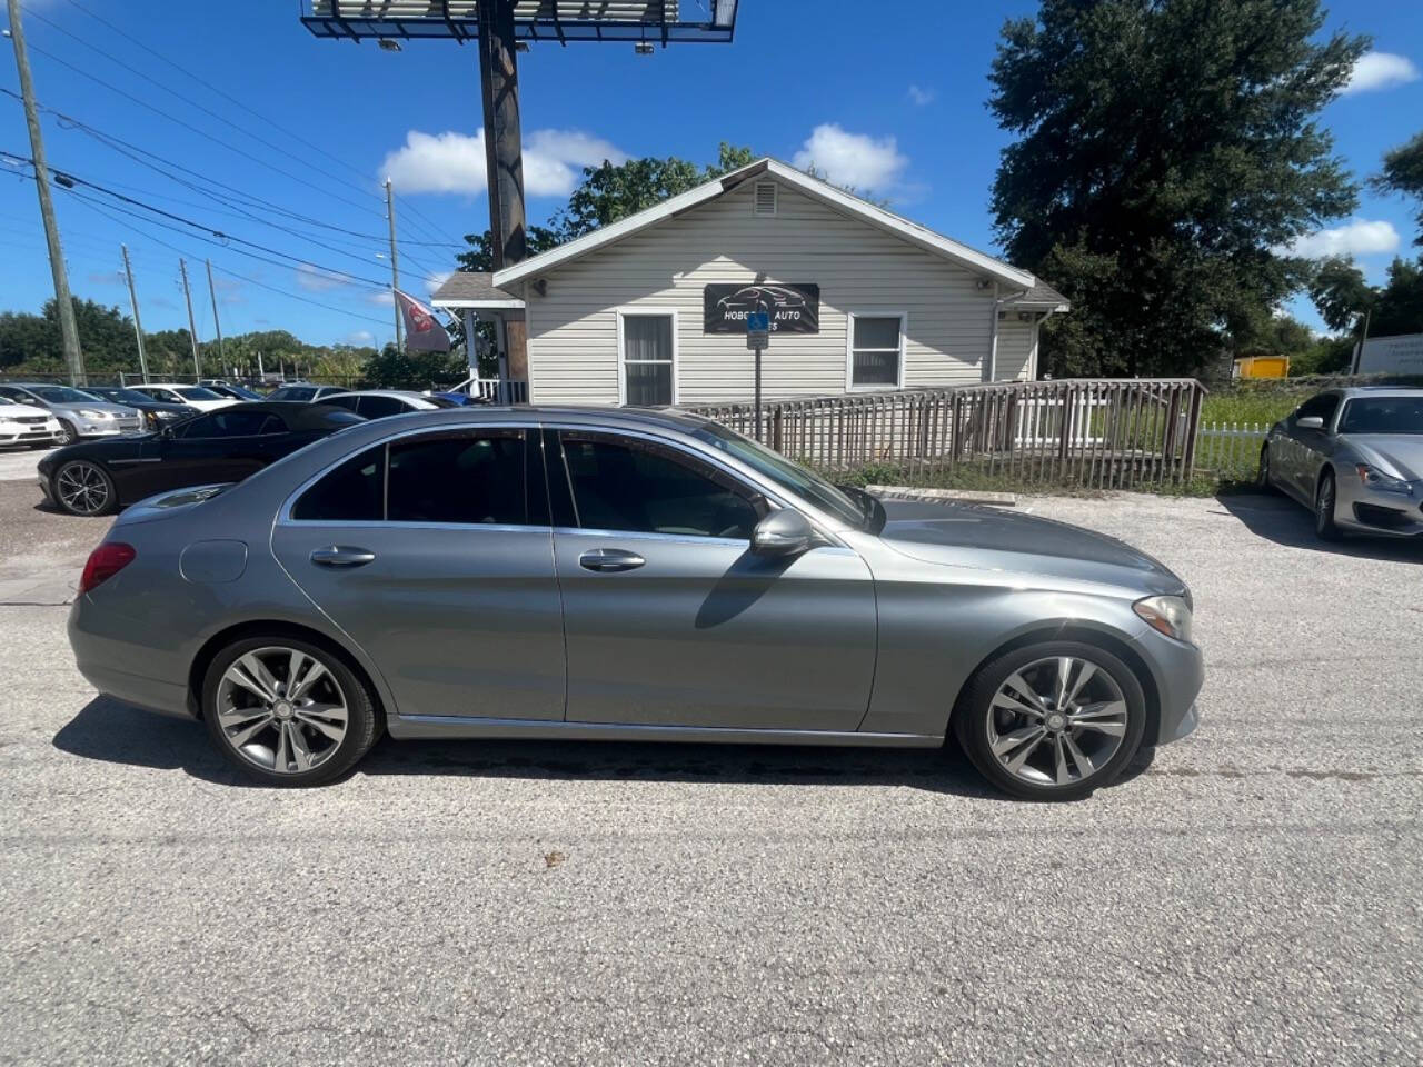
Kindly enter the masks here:
<path id="1" fill-rule="evenodd" d="M 988 708 L 993 758 L 1033 785 L 1077 785 L 1106 767 L 1127 734 L 1127 701 L 1116 679 L 1079 656 L 1019 667 Z"/>

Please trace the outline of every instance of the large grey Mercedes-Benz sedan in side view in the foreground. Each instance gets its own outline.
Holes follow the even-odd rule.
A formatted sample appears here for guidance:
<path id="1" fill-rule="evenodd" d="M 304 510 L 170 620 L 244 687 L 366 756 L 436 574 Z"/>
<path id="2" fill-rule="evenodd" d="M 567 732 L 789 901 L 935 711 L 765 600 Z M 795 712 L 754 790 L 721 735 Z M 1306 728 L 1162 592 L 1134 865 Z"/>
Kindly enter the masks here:
<path id="1" fill-rule="evenodd" d="M 942 745 L 1030 798 L 1197 723 L 1185 583 L 1107 536 L 881 502 L 716 423 L 454 408 L 124 512 L 70 616 L 114 697 L 270 784 L 380 733 Z"/>

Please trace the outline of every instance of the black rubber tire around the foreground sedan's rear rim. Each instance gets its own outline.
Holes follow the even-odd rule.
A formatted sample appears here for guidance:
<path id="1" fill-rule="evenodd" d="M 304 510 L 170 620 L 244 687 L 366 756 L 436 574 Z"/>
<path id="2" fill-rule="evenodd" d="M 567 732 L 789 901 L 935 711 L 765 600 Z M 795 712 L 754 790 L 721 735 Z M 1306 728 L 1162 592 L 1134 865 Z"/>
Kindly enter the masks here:
<path id="1" fill-rule="evenodd" d="M 223 731 L 222 716 L 218 711 L 219 689 L 223 683 L 223 676 L 239 659 L 263 649 L 296 650 L 310 656 L 329 671 L 332 680 L 339 687 L 340 696 L 344 697 L 343 703 L 347 711 L 346 733 L 340 743 L 333 745 L 329 755 L 310 770 L 277 773 L 276 770 L 262 767 L 253 758 L 239 753 Z M 312 642 L 286 635 L 245 637 L 213 656 L 202 680 L 202 718 L 208 726 L 208 736 L 212 738 L 213 745 L 242 774 L 263 785 L 293 788 L 324 785 L 344 775 L 370 751 L 370 747 L 380 738 L 386 724 L 370 687 L 351 670 L 343 654 L 324 644 L 313 644 Z M 297 726 L 296 720 L 290 721 L 293 726 Z M 309 727 L 306 730 L 309 738 L 320 740 L 319 734 Z"/>

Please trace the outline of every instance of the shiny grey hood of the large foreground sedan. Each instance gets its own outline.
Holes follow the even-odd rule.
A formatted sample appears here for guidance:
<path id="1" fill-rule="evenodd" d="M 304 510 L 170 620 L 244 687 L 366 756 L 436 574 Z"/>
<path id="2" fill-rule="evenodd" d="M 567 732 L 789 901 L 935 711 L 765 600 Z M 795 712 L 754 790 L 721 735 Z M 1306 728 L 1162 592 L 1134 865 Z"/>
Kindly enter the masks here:
<path id="1" fill-rule="evenodd" d="M 1190 596 L 1164 563 L 1104 534 L 972 504 L 882 504 L 881 539 L 915 559 Z"/>

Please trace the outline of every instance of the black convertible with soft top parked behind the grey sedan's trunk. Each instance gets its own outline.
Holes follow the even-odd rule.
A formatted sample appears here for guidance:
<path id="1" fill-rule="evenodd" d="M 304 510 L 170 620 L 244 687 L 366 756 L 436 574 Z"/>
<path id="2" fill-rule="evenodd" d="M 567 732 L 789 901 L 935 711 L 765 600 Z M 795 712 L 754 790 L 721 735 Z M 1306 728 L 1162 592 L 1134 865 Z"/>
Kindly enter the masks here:
<path id="1" fill-rule="evenodd" d="M 242 481 L 320 437 L 364 421 L 326 404 L 238 404 L 157 434 L 60 448 L 40 461 L 40 488 L 71 515 L 107 515 L 155 492 Z"/>

